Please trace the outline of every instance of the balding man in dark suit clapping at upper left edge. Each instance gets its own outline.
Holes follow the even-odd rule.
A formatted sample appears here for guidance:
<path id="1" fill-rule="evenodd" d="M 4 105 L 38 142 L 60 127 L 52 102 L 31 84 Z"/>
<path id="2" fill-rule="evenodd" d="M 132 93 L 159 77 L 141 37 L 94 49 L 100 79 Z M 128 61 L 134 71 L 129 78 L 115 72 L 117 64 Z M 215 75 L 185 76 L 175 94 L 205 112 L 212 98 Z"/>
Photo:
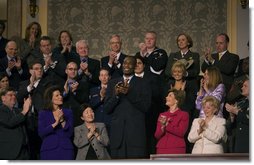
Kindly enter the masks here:
<path id="1" fill-rule="evenodd" d="M 7 55 L 0 60 L 0 72 L 5 72 L 10 86 L 18 90 L 19 82 L 29 78 L 28 66 L 17 56 L 18 48 L 15 41 L 9 41 L 5 50 Z"/>

